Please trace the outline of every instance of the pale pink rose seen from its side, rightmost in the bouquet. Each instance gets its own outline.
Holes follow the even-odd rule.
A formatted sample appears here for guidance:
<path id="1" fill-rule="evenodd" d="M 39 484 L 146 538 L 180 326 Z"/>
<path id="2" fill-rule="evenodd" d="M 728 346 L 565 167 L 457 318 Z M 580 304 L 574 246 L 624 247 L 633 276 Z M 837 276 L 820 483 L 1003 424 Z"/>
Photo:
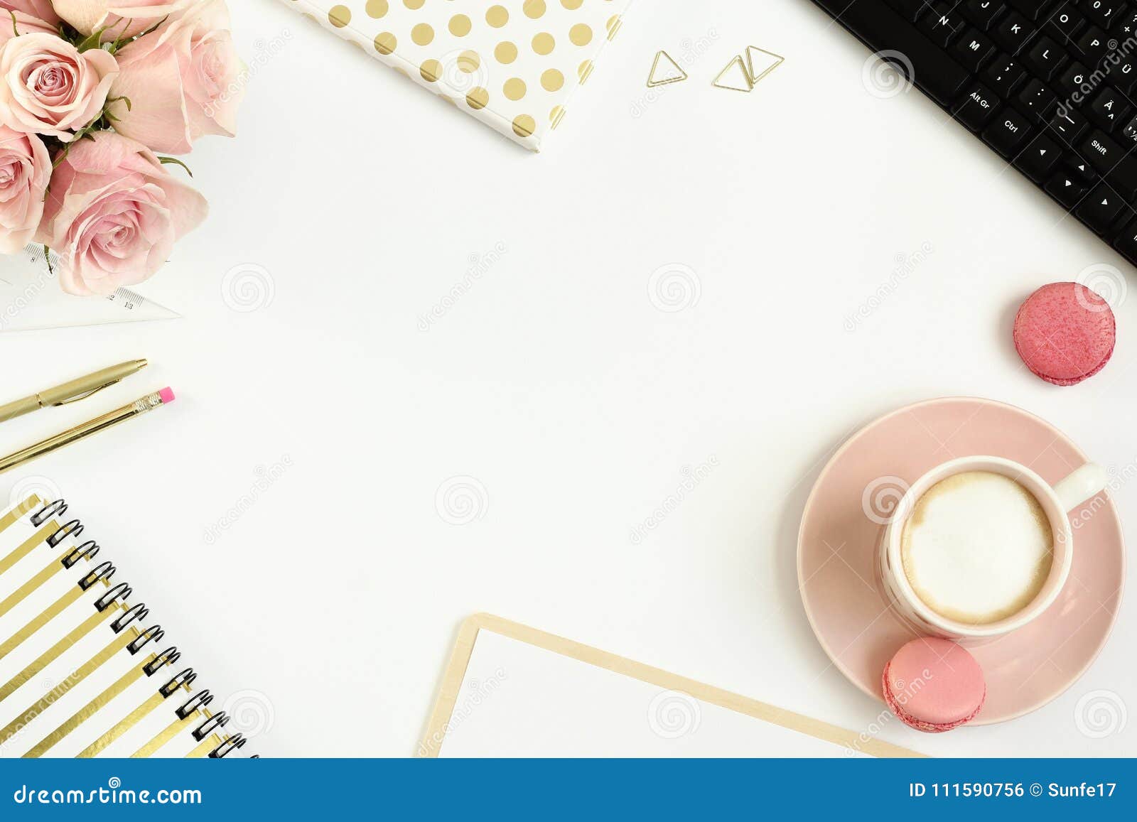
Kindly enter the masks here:
<path id="1" fill-rule="evenodd" d="M 185 153 L 204 134 L 233 136 L 241 61 L 224 0 L 204 0 L 118 51 L 115 128 L 155 151 Z"/>

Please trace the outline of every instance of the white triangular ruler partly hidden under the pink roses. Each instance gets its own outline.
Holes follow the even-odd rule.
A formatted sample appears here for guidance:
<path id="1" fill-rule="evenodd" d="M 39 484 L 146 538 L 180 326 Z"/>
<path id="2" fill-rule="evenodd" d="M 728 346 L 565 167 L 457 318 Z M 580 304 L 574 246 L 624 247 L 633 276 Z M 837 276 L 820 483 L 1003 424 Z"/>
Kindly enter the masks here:
<path id="1" fill-rule="evenodd" d="M 181 315 L 133 289 L 107 297 L 75 297 L 59 288 L 59 259 L 51 265 L 42 246 L 0 255 L 0 332 L 66 329 L 80 325 L 176 319 Z"/>

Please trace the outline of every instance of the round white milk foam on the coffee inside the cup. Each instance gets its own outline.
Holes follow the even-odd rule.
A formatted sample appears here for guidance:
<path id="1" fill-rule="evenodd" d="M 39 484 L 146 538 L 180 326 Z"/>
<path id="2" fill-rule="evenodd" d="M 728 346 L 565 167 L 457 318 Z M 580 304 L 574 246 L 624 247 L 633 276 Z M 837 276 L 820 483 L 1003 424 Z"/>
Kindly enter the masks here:
<path id="1" fill-rule="evenodd" d="M 1054 537 L 1035 496 L 1009 476 L 968 471 L 916 501 L 901 537 L 904 573 L 938 614 L 998 622 L 1035 598 L 1051 572 Z"/>

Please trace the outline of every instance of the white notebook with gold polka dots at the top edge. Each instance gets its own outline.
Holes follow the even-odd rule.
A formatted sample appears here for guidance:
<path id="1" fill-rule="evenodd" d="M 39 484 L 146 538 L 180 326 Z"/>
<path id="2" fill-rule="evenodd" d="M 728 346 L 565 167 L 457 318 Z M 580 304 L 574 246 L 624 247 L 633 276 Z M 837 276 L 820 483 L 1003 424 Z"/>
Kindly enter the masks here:
<path id="1" fill-rule="evenodd" d="M 540 151 L 631 0 L 284 0 Z"/>

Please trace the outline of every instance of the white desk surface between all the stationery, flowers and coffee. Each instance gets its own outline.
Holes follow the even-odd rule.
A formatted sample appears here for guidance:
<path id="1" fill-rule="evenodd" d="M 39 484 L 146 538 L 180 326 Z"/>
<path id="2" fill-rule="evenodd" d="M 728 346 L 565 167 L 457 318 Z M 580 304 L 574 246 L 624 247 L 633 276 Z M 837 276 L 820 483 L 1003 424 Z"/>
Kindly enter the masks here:
<path id="1" fill-rule="evenodd" d="M 1010 330 L 1036 287 L 1129 267 L 918 91 L 866 93 L 868 51 L 806 0 L 638 3 L 539 156 L 279 0 L 231 6 L 250 64 L 289 36 L 250 82 L 240 136 L 189 157 L 211 217 L 141 289 L 184 318 L 0 337 L 13 397 L 152 363 L 0 440 L 174 387 L 172 407 L 23 475 L 61 489 L 202 684 L 265 695 L 265 755 L 413 754 L 478 611 L 866 728 L 881 706 L 829 666 L 795 572 L 805 497 L 856 423 L 977 395 L 1103 464 L 1137 459 L 1137 298 L 1117 308 L 1113 362 L 1077 388 L 1028 374 Z M 648 100 L 656 50 L 703 38 L 691 80 Z M 787 60 L 752 94 L 711 88 L 747 44 Z M 897 256 L 926 243 L 895 281 Z M 241 313 L 222 284 L 244 264 L 274 293 Z M 653 305 L 667 264 L 697 273 L 697 305 Z M 711 457 L 633 545 L 683 466 Z M 285 460 L 208 542 L 258 466 Z M 0 478 L 0 498 L 19 476 Z M 435 510 L 454 476 L 488 495 L 470 524 Z M 1132 538 L 1137 483 L 1114 496 Z M 1032 715 L 881 738 L 933 755 L 1132 754 L 1137 716 L 1093 739 L 1074 709 L 1105 689 L 1137 713 L 1135 631 L 1130 601 L 1089 672 Z"/>

